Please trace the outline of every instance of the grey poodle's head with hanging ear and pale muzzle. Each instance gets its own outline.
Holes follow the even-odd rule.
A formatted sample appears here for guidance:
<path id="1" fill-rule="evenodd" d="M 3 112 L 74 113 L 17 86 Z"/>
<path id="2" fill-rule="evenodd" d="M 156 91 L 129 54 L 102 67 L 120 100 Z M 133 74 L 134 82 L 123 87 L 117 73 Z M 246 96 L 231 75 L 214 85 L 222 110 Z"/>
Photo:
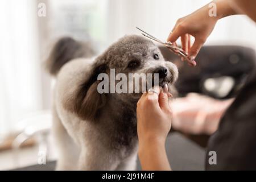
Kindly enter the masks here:
<path id="1" fill-rule="evenodd" d="M 178 76 L 176 65 L 165 61 L 159 48 L 151 40 L 137 35 L 125 36 L 96 58 L 88 78 L 77 93 L 74 111 L 83 119 L 93 119 L 97 117 L 106 101 L 113 97 L 115 100 L 118 98 L 125 102 L 138 101 L 143 92 L 144 83 L 143 78 L 139 78 L 141 81 L 136 85 L 135 79 L 138 75 L 140 77 L 144 74 L 149 76 L 146 77 L 148 82 L 148 78 L 152 76 L 152 85 L 155 85 L 154 73 L 159 77 L 160 86 L 164 84 L 171 86 Z M 102 79 L 99 79 L 99 75 L 103 75 Z M 106 79 L 105 76 L 108 78 Z M 120 84 L 121 81 L 122 84 Z M 129 86 L 131 81 L 133 81 L 132 88 Z M 151 84 L 148 84 L 147 89 L 150 87 Z M 105 92 L 102 93 L 102 90 Z"/>

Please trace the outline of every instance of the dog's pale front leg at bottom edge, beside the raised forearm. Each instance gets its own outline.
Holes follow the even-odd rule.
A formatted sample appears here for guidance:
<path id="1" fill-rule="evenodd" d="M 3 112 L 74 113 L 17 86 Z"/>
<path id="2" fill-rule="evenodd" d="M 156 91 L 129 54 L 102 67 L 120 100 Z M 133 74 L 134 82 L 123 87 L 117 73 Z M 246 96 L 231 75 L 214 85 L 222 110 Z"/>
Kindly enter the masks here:
<path id="1" fill-rule="evenodd" d="M 137 167 L 137 151 L 128 158 L 122 160 L 115 170 L 118 171 L 134 171 Z"/>

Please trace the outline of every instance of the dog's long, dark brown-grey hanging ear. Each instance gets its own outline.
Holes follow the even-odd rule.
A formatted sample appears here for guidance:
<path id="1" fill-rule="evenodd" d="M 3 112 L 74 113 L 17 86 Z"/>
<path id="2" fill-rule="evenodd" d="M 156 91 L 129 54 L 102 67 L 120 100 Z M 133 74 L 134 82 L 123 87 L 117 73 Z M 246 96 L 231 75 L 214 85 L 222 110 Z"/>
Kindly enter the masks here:
<path id="1" fill-rule="evenodd" d="M 105 73 L 106 69 L 105 64 L 94 65 L 89 79 L 80 85 L 75 97 L 74 111 L 81 119 L 90 121 L 96 119 L 101 108 L 105 105 L 106 94 L 98 93 L 97 77 L 100 73 Z"/>

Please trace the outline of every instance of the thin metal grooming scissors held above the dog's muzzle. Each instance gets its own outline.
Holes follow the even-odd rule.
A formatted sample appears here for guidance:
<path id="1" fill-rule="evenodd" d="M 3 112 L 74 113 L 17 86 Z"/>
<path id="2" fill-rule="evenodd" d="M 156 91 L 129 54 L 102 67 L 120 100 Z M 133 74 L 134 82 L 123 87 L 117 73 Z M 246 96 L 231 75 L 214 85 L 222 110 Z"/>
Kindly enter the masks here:
<path id="1" fill-rule="evenodd" d="M 167 47 L 171 52 L 175 53 L 176 55 L 178 55 L 180 57 L 183 57 L 185 60 L 188 61 L 189 64 L 192 64 L 191 60 L 188 57 L 188 54 L 183 49 L 181 49 L 181 48 L 179 48 L 177 46 L 174 46 L 174 44 L 172 44 L 171 42 L 162 42 L 161 40 L 156 39 L 154 36 L 148 34 L 147 32 L 145 32 L 143 30 L 141 30 L 141 28 L 138 28 L 138 27 L 136 27 L 136 28 L 138 30 L 142 31 L 142 35 L 143 36 L 146 36 L 147 38 L 162 44 L 163 46 Z M 195 64 L 192 64 L 192 65 L 195 66 Z"/>

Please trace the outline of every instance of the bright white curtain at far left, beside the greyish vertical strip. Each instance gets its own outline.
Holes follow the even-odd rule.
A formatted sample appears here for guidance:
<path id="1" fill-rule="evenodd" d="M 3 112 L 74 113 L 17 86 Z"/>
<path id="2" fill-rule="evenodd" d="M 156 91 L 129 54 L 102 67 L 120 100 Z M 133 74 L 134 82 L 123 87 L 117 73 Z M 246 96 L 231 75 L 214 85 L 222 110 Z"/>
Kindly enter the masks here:
<path id="1" fill-rule="evenodd" d="M 0 134 L 42 107 L 37 3 L 0 2 Z"/>

